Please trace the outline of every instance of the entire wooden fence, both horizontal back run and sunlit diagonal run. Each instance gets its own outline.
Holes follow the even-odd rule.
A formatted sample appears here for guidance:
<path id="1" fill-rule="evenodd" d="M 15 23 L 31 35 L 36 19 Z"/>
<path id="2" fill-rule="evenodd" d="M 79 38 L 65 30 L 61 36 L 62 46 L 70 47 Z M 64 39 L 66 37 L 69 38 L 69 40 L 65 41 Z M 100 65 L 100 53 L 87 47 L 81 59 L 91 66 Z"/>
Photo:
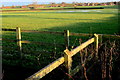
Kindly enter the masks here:
<path id="1" fill-rule="evenodd" d="M 41 42 L 22 41 L 21 40 L 21 32 L 59 34 L 59 35 L 64 35 L 64 37 L 65 37 L 65 47 L 66 47 L 66 49 L 64 50 L 64 56 L 62 56 L 59 59 L 55 60 L 54 62 L 52 62 L 51 64 L 49 64 L 45 68 L 39 70 L 37 73 L 35 73 L 32 76 L 28 77 L 26 80 L 34 80 L 34 79 L 38 80 L 38 79 L 41 79 L 42 77 L 44 77 L 45 75 L 47 75 L 48 73 L 50 73 L 52 70 L 59 67 L 63 63 L 65 65 L 66 69 L 67 69 L 67 73 L 70 74 L 71 76 L 75 75 L 82 68 L 82 65 L 78 65 L 76 68 L 74 68 L 72 70 L 71 69 L 71 67 L 72 67 L 72 56 L 77 54 L 79 51 L 81 51 L 82 49 L 84 49 L 88 45 L 94 43 L 95 44 L 95 51 L 96 51 L 95 55 L 96 55 L 96 58 L 98 58 L 98 38 L 101 38 L 103 36 L 102 34 L 94 34 L 93 38 L 91 38 L 88 41 L 82 43 L 81 45 L 79 45 L 75 49 L 69 51 L 68 50 L 69 36 L 71 36 L 71 35 L 73 35 L 73 36 L 91 36 L 92 34 L 70 33 L 69 30 L 65 30 L 64 32 L 30 31 L 30 30 L 20 30 L 20 28 L 18 28 L 18 27 L 16 29 L 2 29 L 2 30 L 3 31 L 16 31 L 17 40 L 9 40 L 9 41 L 13 41 L 13 42 L 17 41 L 17 45 L 18 45 L 18 48 L 19 48 L 20 52 L 21 52 L 21 49 L 22 49 L 22 43 L 45 44 L 45 43 L 41 43 Z M 120 36 L 118 36 L 118 35 L 116 35 L 116 36 L 104 35 L 104 36 L 120 38 Z M 5 39 L 3 39 L 3 40 L 5 40 Z M 90 54 L 89 57 L 93 57 L 93 55 L 94 54 Z M 90 60 L 89 57 L 88 57 L 88 60 Z M 86 63 L 87 62 L 85 62 L 84 65 Z"/>

